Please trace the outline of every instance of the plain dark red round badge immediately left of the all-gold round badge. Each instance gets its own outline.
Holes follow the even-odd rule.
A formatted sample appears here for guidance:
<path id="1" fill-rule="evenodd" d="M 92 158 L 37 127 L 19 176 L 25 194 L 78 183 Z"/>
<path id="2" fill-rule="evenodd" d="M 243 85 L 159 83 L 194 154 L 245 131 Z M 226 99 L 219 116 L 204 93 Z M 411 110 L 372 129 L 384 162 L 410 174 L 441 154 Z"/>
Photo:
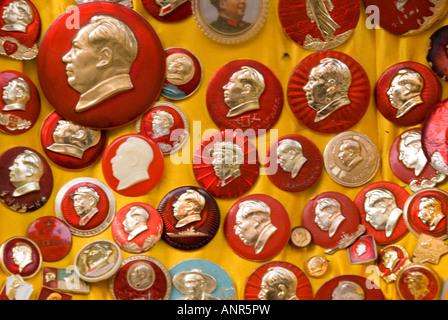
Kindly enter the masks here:
<path id="1" fill-rule="evenodd" d="M 273 143 L 266 153 L 265 170 L 278 188 L 299 192 L 311 188 L 319 180 L 323 160 L 310 139 L 295 134 Z"/>

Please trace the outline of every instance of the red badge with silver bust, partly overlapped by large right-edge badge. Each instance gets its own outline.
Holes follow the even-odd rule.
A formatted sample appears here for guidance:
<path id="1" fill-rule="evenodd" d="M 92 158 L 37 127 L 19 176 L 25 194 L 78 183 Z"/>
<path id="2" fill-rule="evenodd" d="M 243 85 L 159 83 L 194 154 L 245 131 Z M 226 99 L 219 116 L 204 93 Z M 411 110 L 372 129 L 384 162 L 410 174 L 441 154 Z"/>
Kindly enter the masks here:
<path id="1" fill-rule="evenodd" d="M 446 175 L 435 170 L 425 156 L 421 128 L 412 128 L 395 138 L 389 152 L 392 172 L 413 192 L 435 187 Z"/>

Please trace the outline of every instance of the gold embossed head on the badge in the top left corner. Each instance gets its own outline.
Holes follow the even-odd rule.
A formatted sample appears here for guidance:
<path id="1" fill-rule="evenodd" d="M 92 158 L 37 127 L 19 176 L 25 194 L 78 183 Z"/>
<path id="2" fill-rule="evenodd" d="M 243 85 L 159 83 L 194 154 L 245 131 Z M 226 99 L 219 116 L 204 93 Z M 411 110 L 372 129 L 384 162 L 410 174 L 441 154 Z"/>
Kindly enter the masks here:
<path id="1" fill-rule="evenodd" d="M 4 31 L 26 32 L 26 28 L 34 20 L 33 9 L 26 1 L 17 0 L 4 7 L 2 27 Z"/>

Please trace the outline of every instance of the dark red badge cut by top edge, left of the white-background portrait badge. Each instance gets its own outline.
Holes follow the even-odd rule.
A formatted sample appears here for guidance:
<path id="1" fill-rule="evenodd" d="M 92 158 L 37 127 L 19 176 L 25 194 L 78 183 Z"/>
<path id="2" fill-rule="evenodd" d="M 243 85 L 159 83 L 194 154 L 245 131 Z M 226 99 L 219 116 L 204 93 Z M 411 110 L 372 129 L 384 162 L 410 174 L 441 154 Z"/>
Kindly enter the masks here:
<path id="1" fill-rule="evenodd" d="M 179 22 L 192 14 L 191 1 L 188 0 L 142 0 L 143 7 L 161 22 Z"/>

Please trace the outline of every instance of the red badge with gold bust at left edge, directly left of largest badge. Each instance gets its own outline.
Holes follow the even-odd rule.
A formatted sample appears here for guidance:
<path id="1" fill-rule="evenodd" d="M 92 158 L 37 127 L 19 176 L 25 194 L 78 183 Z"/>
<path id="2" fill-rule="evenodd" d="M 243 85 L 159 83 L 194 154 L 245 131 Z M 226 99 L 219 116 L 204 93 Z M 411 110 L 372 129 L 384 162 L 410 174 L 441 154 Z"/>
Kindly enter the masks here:
<path id="1" fill-rule="evenodd" d="M 0 131 L 18 135 L 30 130 L 40 114 L 40 96 L 33 81 L 17 71 L 0 73 Z"/>

